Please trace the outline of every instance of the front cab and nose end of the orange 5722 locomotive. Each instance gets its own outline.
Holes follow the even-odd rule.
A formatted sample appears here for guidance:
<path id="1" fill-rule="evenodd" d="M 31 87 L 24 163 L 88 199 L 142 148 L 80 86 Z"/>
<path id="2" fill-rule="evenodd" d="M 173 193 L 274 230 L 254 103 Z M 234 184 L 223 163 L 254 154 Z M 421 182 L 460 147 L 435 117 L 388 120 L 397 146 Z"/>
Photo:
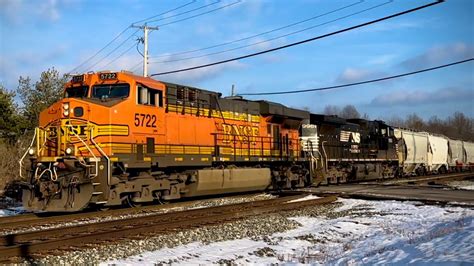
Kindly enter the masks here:
<path id="1" fill-rule="evenodd" d="M 29 187 L 23 193 L 25 207 L 77 211 L 91 201 L 106 203 L 106 193 L 116 182 L 112 178 L 116 159 L 111 157 L 119 147 L 113 143 L 127 141 L 133 134 L 153 133 L 162 120 L 158 118 L 162 95 L 158 82 L 140 82 L 127 73 L 74 76 L 65 86 L 64 98 L 40 114 L 28 150 L 32 169 L 27 177 Z M 144 114 L 135 115 L 132 125 L 131 109 Z"/>

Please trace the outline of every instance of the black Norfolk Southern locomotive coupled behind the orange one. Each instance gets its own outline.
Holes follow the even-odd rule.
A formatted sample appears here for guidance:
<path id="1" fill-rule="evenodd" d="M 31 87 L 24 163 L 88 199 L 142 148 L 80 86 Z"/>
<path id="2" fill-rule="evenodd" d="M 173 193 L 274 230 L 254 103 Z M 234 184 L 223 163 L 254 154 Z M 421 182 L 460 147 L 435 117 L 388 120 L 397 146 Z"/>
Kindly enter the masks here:
<path id="1" fill-rule="evenodd" d="M 310 114 L 310 124 L 317 127 L 317 143 L 311 145 L 317 147 L 313 156 L 322 184 L 398 175 L 397 140 L 383 121 Z"/>

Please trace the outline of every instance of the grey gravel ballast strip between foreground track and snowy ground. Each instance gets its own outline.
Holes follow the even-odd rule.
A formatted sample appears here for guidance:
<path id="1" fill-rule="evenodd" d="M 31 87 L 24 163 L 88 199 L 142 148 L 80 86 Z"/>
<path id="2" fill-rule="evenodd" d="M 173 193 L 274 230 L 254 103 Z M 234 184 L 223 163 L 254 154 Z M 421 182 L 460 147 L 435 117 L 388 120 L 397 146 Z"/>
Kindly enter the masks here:
<path id="1" fill-rule="evenodd" d="M 250 238 L 254 240 L 267 240 L 268 235 L 295 229 L 300 224 L 287 219 L 294 216 L 347 216 L 350 210 L 334 212 L 341 203 L 318 205 L 284 213 L 273 213 L 238 220 L 220 225 L 205 226 L 201 228 L 170 233 L 166 235 L 148 236 L 140 240 L 127 240 L 108 245 L 95 245 L 88 249 L 61 252 L 61 255 L 48 255 L 44 258 L 28 261 L 33 264 L 97 264 L 103 261 L 126 258 L 146 251 L 161 248 L 173 248 L 180 245 L 200 241 L 211 243 L 226 240 Z M 262 251 L 271 254 L 271 251 Z M 162 261 L 159 263 L 173 263 Z M 225 263 L 225 262 L 223 262 Z"/>

